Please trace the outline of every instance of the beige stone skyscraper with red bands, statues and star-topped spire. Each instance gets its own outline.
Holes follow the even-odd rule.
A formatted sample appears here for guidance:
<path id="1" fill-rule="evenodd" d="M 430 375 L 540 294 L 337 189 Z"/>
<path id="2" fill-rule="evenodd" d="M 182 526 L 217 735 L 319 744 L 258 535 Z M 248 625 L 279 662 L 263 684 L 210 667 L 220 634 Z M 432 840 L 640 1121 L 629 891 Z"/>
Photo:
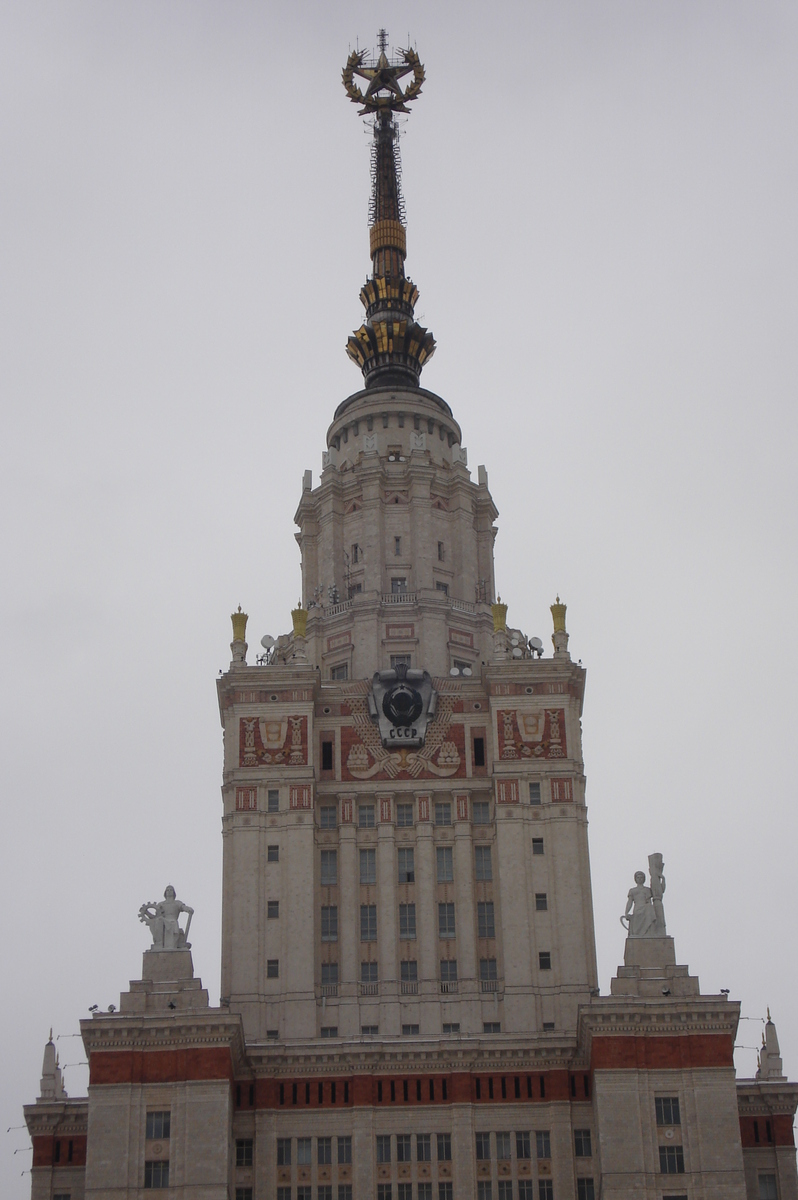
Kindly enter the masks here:
<path id="1" fill-rule="evenodd" d="M 233 616 L 222 996 L 167 888 L 142 977 L 82 1022 L 88 1099 L 48 1043 L 32 1196 L 798 1200 L 775 1027 L 737 1080 L 739 1004 L 677 962 L 659 854 L 618 882 L 599 994 L 586 672 L 559 598 L 551 647 L 508 622 L 487 470 L 420 384 L 396 114 L 424 67 L 380 35 L 343 83 L 373 125 L 364 385 L 302 480 L 290 632 L 250 654 Z"/>

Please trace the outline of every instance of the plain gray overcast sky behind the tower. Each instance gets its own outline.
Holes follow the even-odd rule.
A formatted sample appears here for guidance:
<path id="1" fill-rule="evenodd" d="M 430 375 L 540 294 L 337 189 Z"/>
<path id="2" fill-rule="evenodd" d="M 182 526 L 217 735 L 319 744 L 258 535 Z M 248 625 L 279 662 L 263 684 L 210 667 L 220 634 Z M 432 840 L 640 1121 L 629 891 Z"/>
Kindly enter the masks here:
<path id="1" fill-rule="evenodd" d="M 408 32 L 408 270 L 509 619 L 568 601 L 600 979 L 652 851 L 668 930 L 798 1076 L 798 7 L 5 0 L 0 1192 L 50 1025 L 72 1094 L 168 881 L 218 997 L 229 613 L 287 631 L 293 514 L 368 268 L 349 43 Z"/>

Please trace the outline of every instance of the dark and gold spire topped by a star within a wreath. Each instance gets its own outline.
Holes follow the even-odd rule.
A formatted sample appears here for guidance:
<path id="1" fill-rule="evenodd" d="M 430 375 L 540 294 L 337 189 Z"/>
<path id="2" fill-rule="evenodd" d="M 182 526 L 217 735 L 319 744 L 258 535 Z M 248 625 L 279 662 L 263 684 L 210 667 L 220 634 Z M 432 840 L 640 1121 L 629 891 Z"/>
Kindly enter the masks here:
<path id="1" fill-rule="evenodd" d="M 366 320 L 347 342 L 347 354 L 364 373 L 367 388 L 419 384 L 421 367 L 432 356 L 436 341 L 414 319 L 419 289 L 404 275 L 407 232 L 398 125 L 395 113 L 409 113 L 425 79 L 414 49 L 388 58 L 388 34 L 378 34 L 379 54 L 367 58 L 353 50 L 343 68 L 349 98 L 362 104 L 360 114 L 372 119 L 371 203 L 368 206 L 372 274 L 360 292 Z M 400 79 L 412 74 L 403 88 Z M 365 92 L 355 78 L 366 82 Z"/>

